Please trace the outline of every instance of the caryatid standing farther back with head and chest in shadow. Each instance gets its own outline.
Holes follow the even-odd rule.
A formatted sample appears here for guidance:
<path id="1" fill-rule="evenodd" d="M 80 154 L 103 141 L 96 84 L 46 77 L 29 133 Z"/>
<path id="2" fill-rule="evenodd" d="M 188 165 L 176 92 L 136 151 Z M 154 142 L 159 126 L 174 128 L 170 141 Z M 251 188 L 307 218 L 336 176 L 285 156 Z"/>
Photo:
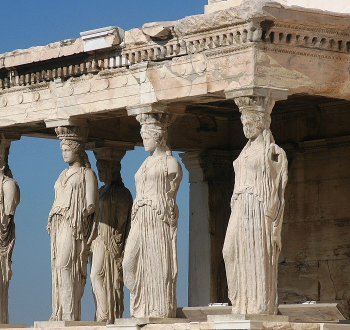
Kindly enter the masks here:
<path id="1" fill-rule="evenodd" d="M 98 234 L 92 242 L 91 283 L 96 304 L 95 320 L 114 323 L 122 317 L 122 259 L 130 229 L 132 196 L 120 176 L 125 150 L 95 149 L 99 180 Z"/>

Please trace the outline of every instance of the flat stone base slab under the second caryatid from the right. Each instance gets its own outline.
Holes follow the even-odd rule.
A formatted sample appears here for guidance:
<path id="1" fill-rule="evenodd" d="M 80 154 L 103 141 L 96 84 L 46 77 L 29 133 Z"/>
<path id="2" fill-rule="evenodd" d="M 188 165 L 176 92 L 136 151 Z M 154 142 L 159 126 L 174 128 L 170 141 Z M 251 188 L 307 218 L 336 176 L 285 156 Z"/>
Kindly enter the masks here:
<path id="1" fill-rule="evenodd" d="M 186 323 L 187 318 L 166 318 L 166 317 L 129 317 L 117 318 L 114 324 L 107 324 L 107 330 L 139 330 L 146 324 L 174 324 Z"/>

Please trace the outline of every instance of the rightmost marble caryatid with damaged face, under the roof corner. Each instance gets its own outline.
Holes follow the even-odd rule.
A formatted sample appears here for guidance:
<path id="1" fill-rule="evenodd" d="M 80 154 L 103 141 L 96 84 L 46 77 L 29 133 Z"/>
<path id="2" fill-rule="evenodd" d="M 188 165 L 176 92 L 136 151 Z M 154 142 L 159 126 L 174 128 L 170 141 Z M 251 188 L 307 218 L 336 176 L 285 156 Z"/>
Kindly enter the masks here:
<path id="1" fill-rule="evenodd" d="M 269 129 L 274 101 L 239 97 L 235 102 L 249 140 L 233 162 L 235 182 L 223 246 L 228 296 L 232 314 L 276 314 L 287 159 Z"/>

